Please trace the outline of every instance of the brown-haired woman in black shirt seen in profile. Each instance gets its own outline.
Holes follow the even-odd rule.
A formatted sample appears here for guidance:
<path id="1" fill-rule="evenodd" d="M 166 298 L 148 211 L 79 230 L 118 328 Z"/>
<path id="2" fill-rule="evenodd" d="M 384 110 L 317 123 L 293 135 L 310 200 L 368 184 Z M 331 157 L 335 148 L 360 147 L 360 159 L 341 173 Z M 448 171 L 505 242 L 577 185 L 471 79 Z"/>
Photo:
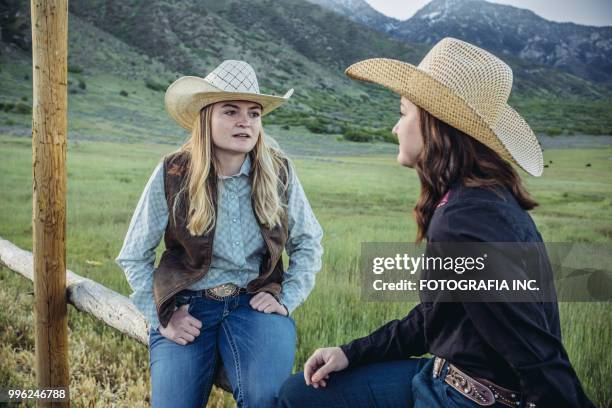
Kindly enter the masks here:
<path id="1" fill-rule="evenodd" d="M 531 242 L 541 236 L 512 163 L 542 173 L 542 152 L 507 104 L 512 71 L 453 38 L 414 66 L 369 59 L 351 78 L 401 95 L 400 164 L 416 169 L 417 241 Z M 525 245 L 523 245 L 525 246 Z M 526 259 L 506 260 L 522 273 Z M 536 265 L 551 277 L 546 252 Z M 554 296 L 554 295 L 553 295 Z M 556 298 L 555 298 L 556 299 Z M 281 389 L 282 407 L 592 406 L 561 343 L 556 300 L 427 302 L 340 347 L 318 349 Z M 434 358 L 410 358 L 430 353 Z"/>

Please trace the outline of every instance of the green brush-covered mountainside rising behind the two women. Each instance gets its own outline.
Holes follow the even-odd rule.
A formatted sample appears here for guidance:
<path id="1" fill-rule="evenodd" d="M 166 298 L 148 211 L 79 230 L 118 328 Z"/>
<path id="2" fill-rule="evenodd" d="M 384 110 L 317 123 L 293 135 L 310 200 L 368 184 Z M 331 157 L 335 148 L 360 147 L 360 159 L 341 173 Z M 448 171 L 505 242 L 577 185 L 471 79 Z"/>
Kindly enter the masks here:
<path id="1" fill-rule="evenodd" d="M 434 0 L 417 15 L 431 16 L 440 4 L 466 7 L 476 1 Z M 149 140 L 176 139 L 180 129 L 164 112 L 163 91 L 177 77 L 204 76 L 224 59 L 253 65 L 264 92 L 296 89 L 267 123 L 318 134 L 357 129 L 390 136 L 397 96 L 349 80 L 344 69 L 370 57 L 417 63 L 435 41 L 408 39 L 412 19 L 390 19 L 362 0 L 71 0 L 69 13 L 70 125 L 74 134 L 89 138 L 138 140 L 145 137 L 144 124 Z M 472 19 L 474 27 L 484 24 L 478 14 L 461 18 Z M 512 29 L 509 22 L 502 26 Z M 18 112 L 26 109 L 17 106 L 31 97 L 29 2 L 2 0 L 0 33 L 0 131 L 28 127 L 30 118 Z M 483 33 L 478 41 L 499 41 Z M 586 63 L 580 72 L 570 72 L 512 47 L 491 50 L 512 67 L 510 103 L 536 132 L 612 133 L 612 91 L 605 72 L 597 77 Z"/>

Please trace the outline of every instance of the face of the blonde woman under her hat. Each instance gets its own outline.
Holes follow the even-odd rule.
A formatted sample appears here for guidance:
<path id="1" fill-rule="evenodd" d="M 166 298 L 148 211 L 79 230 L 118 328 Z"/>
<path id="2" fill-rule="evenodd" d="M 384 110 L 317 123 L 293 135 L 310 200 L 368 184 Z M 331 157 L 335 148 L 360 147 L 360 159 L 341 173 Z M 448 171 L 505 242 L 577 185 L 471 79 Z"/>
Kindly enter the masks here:
<path id="1" fill-rule="evenodd" d="M 211 131 L 215 149 L 229 154 L 250 152 L 261 132 L 261 105 L 248 101 L 215 103 Z"/>

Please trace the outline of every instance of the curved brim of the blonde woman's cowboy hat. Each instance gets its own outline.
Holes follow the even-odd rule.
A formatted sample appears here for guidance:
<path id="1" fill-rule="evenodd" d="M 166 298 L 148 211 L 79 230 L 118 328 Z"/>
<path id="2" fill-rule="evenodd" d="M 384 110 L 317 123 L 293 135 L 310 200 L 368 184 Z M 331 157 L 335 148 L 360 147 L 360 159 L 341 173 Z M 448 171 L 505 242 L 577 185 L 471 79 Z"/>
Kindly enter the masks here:
<path id="1" fill-rule="evenodd" d="M 228 92 L 214 87 L 203 78 L 184 76 L 166 90 L 166 110 L 182 128 L 191 130 L 200 110 L 212 103 L 223 101 L 249 101 L 261 105 L 261 115 L 267 115 L 289 100 L 293 88 L 283 96 L 251 92 Z"/>

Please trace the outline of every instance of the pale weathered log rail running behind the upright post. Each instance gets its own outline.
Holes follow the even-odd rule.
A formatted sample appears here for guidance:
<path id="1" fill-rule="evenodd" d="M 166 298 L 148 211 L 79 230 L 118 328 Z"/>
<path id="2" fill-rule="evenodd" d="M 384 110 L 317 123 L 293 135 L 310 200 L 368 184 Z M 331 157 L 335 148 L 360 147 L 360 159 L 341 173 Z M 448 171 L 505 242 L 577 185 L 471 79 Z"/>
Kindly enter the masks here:
<path id="1" fill-rule="evenodd" d="M 0 263 L 33 280 L 32 253 L 0 237 Z M 107 287 L 67 270 L 68 302 L 80 311 L 89 313 L 107 325 L 149 344 L 147 323 L 132 301 Z"/>

